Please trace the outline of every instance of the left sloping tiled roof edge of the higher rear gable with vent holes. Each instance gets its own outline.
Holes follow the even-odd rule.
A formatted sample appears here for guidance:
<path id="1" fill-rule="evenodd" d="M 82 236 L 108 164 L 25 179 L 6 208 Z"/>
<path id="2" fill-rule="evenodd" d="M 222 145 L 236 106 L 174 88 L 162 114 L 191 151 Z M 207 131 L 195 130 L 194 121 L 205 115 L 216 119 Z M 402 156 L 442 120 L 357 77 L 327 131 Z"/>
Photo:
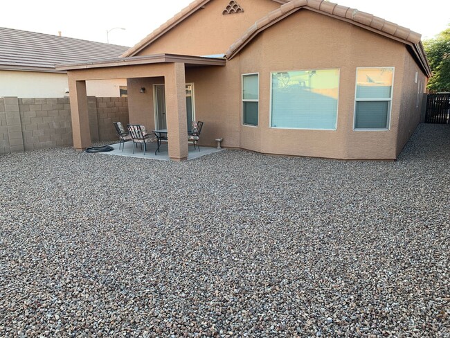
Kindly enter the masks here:
<path id="1" fill-rule="evenodd" d="M 140 42 L 138 42 L 135 46 L 132 48 L 129 48 L 128 51 L 123 53 L 121 57 L 129 57 L 134 56 L 140 51 L 142 51 L 145 47 L 150 45 L 152 42 L 154 42 L 156 39 L 159 39 L 162 35 L 167 33 L 169 30 L 180 24 L 182 21 L 190 17 L 190 15 L 197 12 L 197 10 L 200 10 L 201 8 L 204 8 L 206 3 L 210 2 L 211 0 L 195 0 L 194 2 L 190 3 L 188 7 L 183 8 L 181 12 L 176 14 L 172 19 L 169 19 L 165 22 L 165 24 L 162 24 L 159 26 L 159 28 L 156 28 L 152 33 L 144 37 Z M 272 0 L 278 3 L 288 3 L 291 0 Z"/>

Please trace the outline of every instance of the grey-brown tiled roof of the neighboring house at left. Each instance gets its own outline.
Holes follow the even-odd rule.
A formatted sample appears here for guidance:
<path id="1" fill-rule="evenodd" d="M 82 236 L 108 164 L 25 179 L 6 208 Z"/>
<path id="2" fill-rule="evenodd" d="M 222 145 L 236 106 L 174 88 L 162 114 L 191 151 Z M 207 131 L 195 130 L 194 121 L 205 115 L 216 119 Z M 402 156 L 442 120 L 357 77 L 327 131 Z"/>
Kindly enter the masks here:
<path id="1" fill-rule="evenodd" d="M 126 46 L 0 27 L 0 70 L 57 72 L 55 64 L 119 57 Z"/>

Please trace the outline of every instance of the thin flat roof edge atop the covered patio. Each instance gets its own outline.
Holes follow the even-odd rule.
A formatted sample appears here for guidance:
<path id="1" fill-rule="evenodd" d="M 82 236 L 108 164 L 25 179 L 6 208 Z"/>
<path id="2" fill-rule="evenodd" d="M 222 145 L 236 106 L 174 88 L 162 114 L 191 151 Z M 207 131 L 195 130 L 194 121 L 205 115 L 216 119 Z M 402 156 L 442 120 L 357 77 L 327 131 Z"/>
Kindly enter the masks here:
<path id="1" fill-rule="evenodd" d="M 57 64 L 59 71 L 72 71 L 75 69 L 93 69 L 117 66 L 134 66 L 139 64 L 183 63 L 192 66 L 225 66 L 226 60 L 220 57 L 202 57 L 179 54 L 154 54 L 132 57 L 117 57 L 108 60 L 96 60 L 69 64 Z"/>

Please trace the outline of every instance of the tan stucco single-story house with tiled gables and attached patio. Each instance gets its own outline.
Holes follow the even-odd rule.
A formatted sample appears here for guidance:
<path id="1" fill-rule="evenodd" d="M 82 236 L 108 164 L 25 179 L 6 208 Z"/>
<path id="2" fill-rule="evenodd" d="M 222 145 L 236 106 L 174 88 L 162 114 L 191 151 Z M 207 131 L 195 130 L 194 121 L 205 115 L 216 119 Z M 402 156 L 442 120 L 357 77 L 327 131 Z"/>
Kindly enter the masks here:
<path id="1" fill-rule="evenodd" d="M 61 64 L 73 143 L 91 145 L 89 80 L 127 78 L 130 123 L 168 129 L 169 156 L 202 145 L 396 159 L 431 75 L 420 34 L 323 0 L 197 0 L 121 57 Z"/>

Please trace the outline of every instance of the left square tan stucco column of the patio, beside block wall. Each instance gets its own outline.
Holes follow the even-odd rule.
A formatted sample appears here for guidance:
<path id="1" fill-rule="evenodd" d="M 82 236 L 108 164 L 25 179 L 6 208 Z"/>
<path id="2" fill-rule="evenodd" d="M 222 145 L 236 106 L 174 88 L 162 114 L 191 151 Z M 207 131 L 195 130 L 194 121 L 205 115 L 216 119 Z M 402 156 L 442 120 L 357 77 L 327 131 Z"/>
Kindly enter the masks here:
<path id="1" fill-rule="evenodd" d="M 91 145 L 86 81 L 71 79 L 69 72 L 69 92 L 71 94 L 73 148 L 82 151 Z"/>

